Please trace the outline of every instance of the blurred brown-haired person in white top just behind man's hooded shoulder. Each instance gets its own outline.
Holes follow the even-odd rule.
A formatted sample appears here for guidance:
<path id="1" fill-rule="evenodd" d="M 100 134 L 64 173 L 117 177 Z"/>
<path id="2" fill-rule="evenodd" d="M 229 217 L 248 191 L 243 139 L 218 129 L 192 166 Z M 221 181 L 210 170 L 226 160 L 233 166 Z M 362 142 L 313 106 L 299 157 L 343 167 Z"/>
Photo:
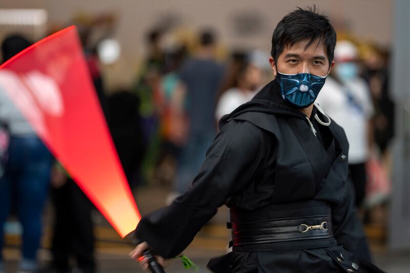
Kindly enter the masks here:
<path id="1" fill-rule="evenodd" d="M 248 62 L 241 65 L 232 75 L 232 79 L 229 79 L 228 89 L 220 95 L 215 110 L 216 120 L 219 121 L 223 115 L 250 101 L 259 91 L 261 76 L 260 69 L 255 65 Z"/>

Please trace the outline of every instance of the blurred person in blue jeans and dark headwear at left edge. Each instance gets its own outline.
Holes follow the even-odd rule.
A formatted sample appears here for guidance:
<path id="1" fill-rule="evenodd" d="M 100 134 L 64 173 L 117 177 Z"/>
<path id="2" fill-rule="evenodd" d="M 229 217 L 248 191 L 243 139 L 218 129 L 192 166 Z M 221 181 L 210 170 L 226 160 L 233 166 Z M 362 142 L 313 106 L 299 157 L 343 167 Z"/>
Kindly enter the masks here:
<path id="1" fill-rule="evenodd" d="M 29 41 L 22 36 L 7 37 L 2 44 L 3 61 L 29 46 Z M 22 259 L 18 272 L 35 272 L 52 155 L 3 91 L 0 92 L 0 120 L 7 124 L 10 132 L 8 161 L 5 174 L 0 179 L 0 249 L 4 246 L 4 223 L 11 204 L 16 203 L 18 219 L 23 226 Z M 0 271 L 2 261 L 0 257 Z"/>

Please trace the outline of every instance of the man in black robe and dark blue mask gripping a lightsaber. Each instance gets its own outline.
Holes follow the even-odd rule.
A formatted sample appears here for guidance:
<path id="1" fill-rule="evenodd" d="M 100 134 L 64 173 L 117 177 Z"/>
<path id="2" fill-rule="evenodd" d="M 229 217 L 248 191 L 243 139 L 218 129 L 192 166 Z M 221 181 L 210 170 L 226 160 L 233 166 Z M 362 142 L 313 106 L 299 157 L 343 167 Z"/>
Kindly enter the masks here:
<path id="1" fill-rule="evenodd" d="M 147 247 L 177 256 L 226 204 L 233 251 L 210 261 L 214 272 L 380 272 L 356 219 L 346 136 L 313 103 L 335 44 L 315 8 L 282 18 L 269 59 L 275 80 L 221 119 L 189 190 L 139 222 L 132 258 Z"/>

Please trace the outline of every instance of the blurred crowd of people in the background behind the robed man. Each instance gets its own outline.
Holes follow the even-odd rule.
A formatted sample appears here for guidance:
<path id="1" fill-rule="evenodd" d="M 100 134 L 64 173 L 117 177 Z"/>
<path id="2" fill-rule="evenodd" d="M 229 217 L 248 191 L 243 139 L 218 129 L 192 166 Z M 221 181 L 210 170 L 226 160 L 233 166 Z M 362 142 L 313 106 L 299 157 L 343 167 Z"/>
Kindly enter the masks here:
<path id="1" fill-rule="evenodd" d="M 164 25 L 147 30 L 147 54 L 138 67 L 129 68 L 135 75 L 132 84 L 108 90 L 103 67 L 115 63 L 121 48 L 110 38 L 114 18 L 78 17 L 71 23 L 78 28 L 90 75 L 132 190 L 167 188 L 164 204 L 192 182 L 218 132 L 218 120 L 273 80 L 269 52 L 228 48 L 218 29 L 207 26 L 187 34 Z M 49 33 L 59 29 L 52 26 Z M 266 39 L 269 43 L 270 37 Z M 2 41 L 2 60 L 33 42 L 18 33 L 8 35 Z M 339 31 L 336 65 L 318 97 L 320 106 L 344 128 L 350 142 L 351 181 L 360 217 L 365 224 L 381 228 L 386 226 L 391 190 L 395 125 L 389 56 L 389 48 Z M 42 212 L 51 197 L 55 212 L 51 267 L 68 272 L 68 257 L 74 254 L 81 270 L 94 272 L 91 203 L 34 132 L 22 125 L 21 117 L 5 110 L 5 100 L 0 102 L 1 137 L 10 139 L 0 143 L 8 154 L 7 159 L 3 157 L 0 183 L 0 232 L 18 229 L 15 219 L 19 219 L 23 227 L 20 268 L 34 270 Z M 0 240 L 0 247 L 3 244 Z"/>

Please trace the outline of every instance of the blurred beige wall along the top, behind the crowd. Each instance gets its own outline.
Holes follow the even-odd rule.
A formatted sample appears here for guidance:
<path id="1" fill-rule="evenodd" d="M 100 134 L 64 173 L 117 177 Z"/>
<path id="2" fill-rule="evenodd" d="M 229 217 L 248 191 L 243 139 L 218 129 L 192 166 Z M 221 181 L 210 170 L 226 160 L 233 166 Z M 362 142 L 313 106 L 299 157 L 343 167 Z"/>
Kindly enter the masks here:
<path id="1" fill-rule="evenodd" d="M 130 80 L 131 71 L 145 53 L 145 34 L 156 25 L 183 27 L 195 32 L 203 26 L 217 30 L 228 48 L 259 48 L 270 51 L 272 31 L 283 15 L 306 5 L 327 14 L 340 31 L 378 44 L 391 44 L 392 0 L 0 0 L 0 8 L 44 8 L 49 24 L 68 25 L 81 13 L 114 12 L 117 28 L 113 34 L 122 48 L 122 65 L 115 78 Z M 114 73 L 115 74 L 115 73 Z"/>

